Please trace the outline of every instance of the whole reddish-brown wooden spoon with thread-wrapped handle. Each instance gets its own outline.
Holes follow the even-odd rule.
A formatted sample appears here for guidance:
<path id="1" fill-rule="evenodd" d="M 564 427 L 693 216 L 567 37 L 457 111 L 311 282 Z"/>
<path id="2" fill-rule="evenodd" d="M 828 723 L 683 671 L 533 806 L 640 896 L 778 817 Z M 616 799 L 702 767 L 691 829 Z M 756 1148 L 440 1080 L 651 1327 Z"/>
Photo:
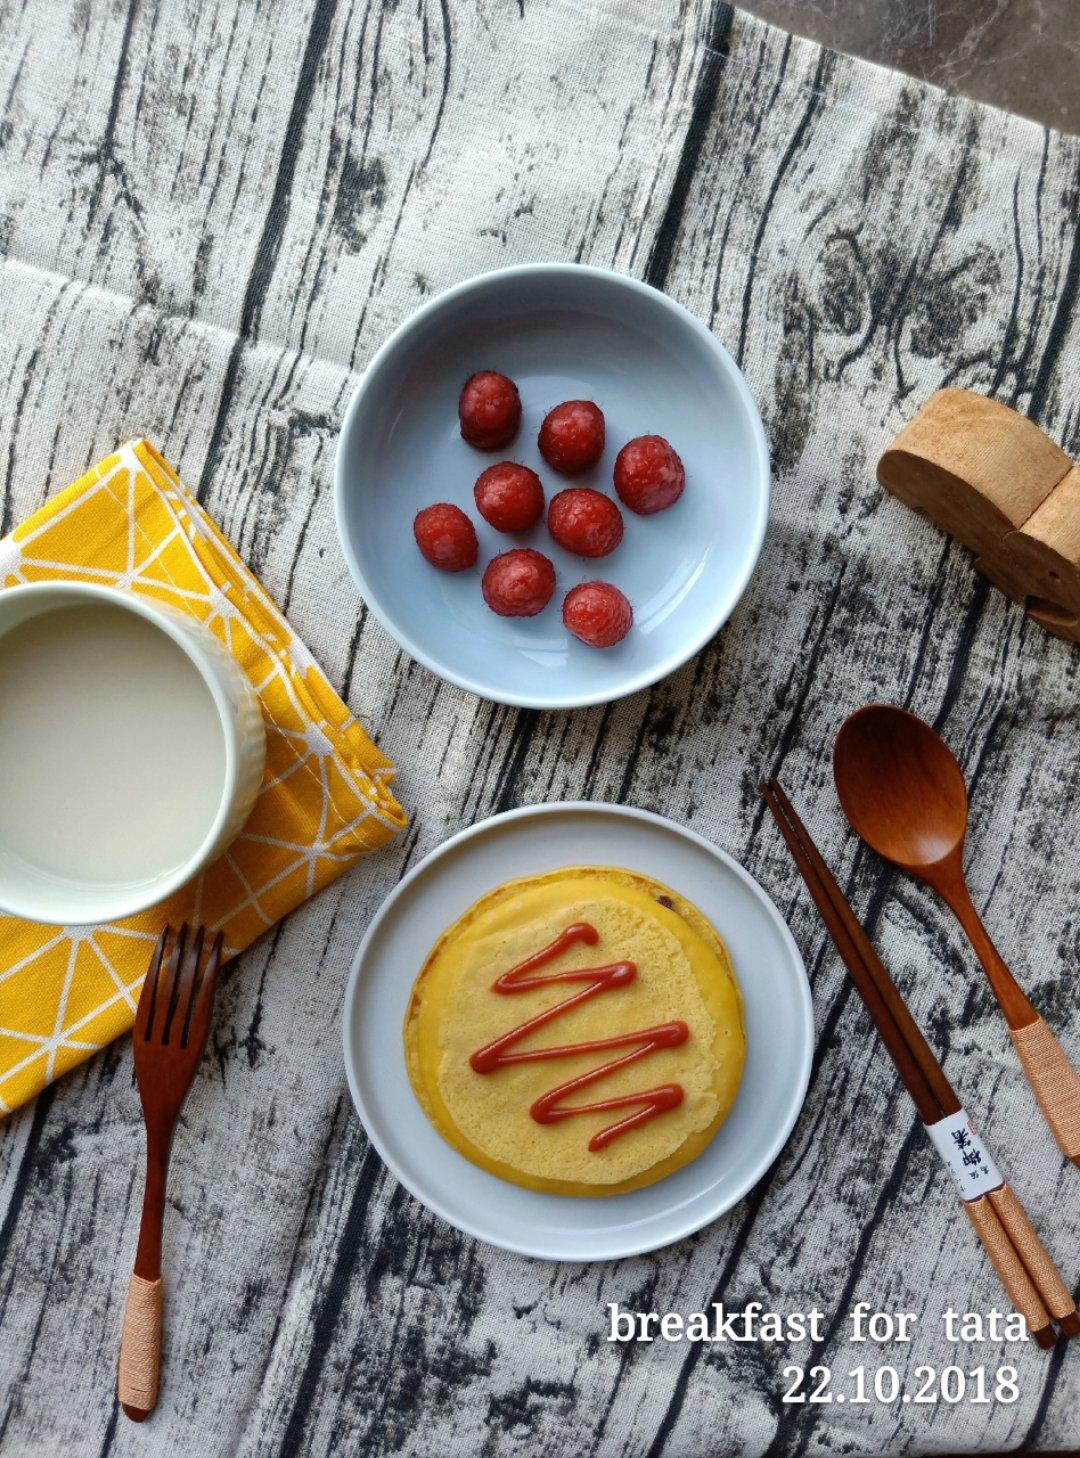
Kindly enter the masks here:
<path id="1" fill-rule="evenodd" d="M 837 735 L 832 770 L 851 828 L 879 856 L 933 886 L 968 933 L 1046 1123 L 1063 1152 L 1080 1165 L 1080 1075 L 972 904 L 963 876 L 968 787 L 949 745 L 915 714 L 869 704 Z"/>

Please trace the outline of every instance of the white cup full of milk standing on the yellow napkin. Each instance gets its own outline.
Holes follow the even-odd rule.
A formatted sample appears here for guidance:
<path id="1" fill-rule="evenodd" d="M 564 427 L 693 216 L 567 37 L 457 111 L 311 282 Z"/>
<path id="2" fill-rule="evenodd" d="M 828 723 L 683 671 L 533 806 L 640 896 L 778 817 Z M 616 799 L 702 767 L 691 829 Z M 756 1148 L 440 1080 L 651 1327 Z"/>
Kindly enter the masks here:
<path id="1" fill-rule="evenodd" d="M 255 690 L 195 618 L 83 582 L 0 592 L 0 911 L 163 901 L 238 835 L 265 751 Z"/>

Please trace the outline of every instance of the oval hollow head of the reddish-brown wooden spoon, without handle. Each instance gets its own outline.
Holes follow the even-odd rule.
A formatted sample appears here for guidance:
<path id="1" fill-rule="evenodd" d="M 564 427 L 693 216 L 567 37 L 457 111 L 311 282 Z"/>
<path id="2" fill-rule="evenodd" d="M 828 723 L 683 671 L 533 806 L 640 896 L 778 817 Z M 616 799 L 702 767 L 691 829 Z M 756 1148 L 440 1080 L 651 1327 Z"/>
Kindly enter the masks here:
<path id="1" fill-rule="evenodd" d="M 959 856 L 968 790 L 930 725 L 892 704 L 867 704 L 837 735 L 832 765 L 844 814 L 879 856 L 923 879 Z"/>

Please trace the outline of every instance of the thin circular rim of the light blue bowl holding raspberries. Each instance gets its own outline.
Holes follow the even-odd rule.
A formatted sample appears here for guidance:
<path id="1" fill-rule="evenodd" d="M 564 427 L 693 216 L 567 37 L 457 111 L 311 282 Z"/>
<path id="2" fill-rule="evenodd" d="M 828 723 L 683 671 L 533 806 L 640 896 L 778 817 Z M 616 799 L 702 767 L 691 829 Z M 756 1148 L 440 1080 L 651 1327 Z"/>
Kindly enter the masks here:
<path id="1" fill-rule="evenodd" d="M 379 595 L 375 590 L 372 582 L 367 579 L 360 561 L 353 550 L 353 542 L 350 532 L 345 525 L 345 497 L 348 493 L 348 483 L 345 478 L 344 459 L 348 451 L 348 442 L 353 432 L 357 429 L 356 421 L 363 408 L 364 397 L 376 378 L 377 372 L 383 367 L 386 360 L 401 348 L 401 346 L 414 332 L 417 332 L 430 318 L 439 313 L 447 303 L 461 299 L 469 293 L 478 293 L 487 289 L 494 280 L 504 278 L 525 278 L 538 276 L 554 276 L 554 277 L 574 277 L 574 278 L 592 278 L 602 284 L 615 284 L 617 287 L 624 287 L 631 293 L 637 293 L 643 297 L 651 299 L 662 308 L 668 309 L 676 319 L 689 328 L 694 334 L 703 340 L 716 356 L 723 372 L 732 381 L 736 394 L 743 407 L 746 421 L 749 424 L 751 437 L 755 446 L 755 455 L 758 461 L 758 504 L 756 515 L 752 522 L 752 541 L 749 551 L 745 554 L 743 563 L 739 572 L 732 579 L 727 590 L 717 599 L 716 609 L 708 614 L 703 625 L 686 639 L 686 643 L 679 647 L 675 653 L 662 659 L 659 663 L 643 669 L 627 682 L 617 688 L 600 688 L 592 691 L 583 691 L 577 694 L 566 695 L 539 695 L 533 693 L 513 693 L 510 690 L 493 690 L 487 684 L 481 684 L 471 678 L 468 674 L 458 672 L 452 665 L 434 658 L 427 653 L 418 643 L 415 643 L 410 634 L 395 623 L 392 615 L 385 609 L 379 601 Z M 353 582 L 360 589 L 360 595 L 364 604 L 372 609 L 375 617 L 389 633 L 389 636 L 398 643 L 407 653 L 411 655 L 424 668 L 429 668 L 439 678 L 446 682 L 455 684 L 458 688 L 466 690 L 466 693 L 475 694 L 478 698 L 484 698 L 488 703 L 509 704 L 514 709 L 541 709 L 541 710 L 560 710 L 560 709 L 587 709 L 595 704 L 615 703 L 619 698 L 625 698 L 630 694 L 640 693 L 643 688 L 651 688 L 653 684 L 660 682 L 660 679 L 668 678 L 676 669 L 682 668 L 684 663 L 689 662 L 701 649 L 720 631 L 720 628 L 727 623 L 732 612 L 739 604 L 746 585 L 754 574 L 754 569 L 758 564 L 761 555 L 761 548 L 765 541 L 765 528 L 768 525 L 770 512 L 770 496 L 772 487 L 771 475 L 771 461 L 768 452 L 768 442 L 765 440 L 765 427 L 761 421 L 761 413 L 758 411 L 754 395 L 751 394 L 746 379 L 727 353 L 724 346 L 717 340 L 711 330 L 708 330 L 701 319 L 689 312 L 676 299 L 672 299 L 662 289 L 653 287 L 653 284 L 644 283 L 640 278 L 633 278 L 628 274 L 617 273 L 614 268 L 599 268 L 595 264 L 570 264 L 570 262 L 531 262 L 531 264 L 512 264 L 506 268 L 491 268 L 481 274 L 474 274 L 469 278 L 463 278 L 461 283 L 452 284 L 442 293 L 429 299 L 415 309 L 408 318 L 394 330 L 394 332 L 379 346 L 379 348 L 372 356 L 367 367 L 364 369 L 360 381 L 353 391 L 348 405 L 345 407 L 345 414 L 341 423 L 341 432 L 338 434 L 337 452 L 334 456 L 334 516 L 337 521 L 338 541 L 341 542 L 341 550 L 345 558 L 345 564 L 353 577 Z"/>

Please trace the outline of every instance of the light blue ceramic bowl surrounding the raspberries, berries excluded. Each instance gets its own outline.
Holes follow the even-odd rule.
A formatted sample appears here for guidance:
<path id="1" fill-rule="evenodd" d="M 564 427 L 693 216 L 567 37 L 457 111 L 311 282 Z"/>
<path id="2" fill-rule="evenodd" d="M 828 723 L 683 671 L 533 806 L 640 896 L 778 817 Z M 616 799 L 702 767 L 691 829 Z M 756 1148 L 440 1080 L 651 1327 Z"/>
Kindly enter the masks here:
<path id="1" fill-rule="evenodd" d="M 458 395 L 480 369 L 509 375 L 522 395 L 522 429 L 504 451 L 461 439 Z M 544 416 L 563 399 L 595 399 L 608 426 L 599 465 L 573 481 L 536 449 Z M 538 471 L 548 502 L 567 486 L 615 496 L 615 456 L 641 434 L 670 440 L 686 490 L 654 516 L 624 509 L 625 535 L 609 557 L 563 551 L 544 522 L 507 537 L 475 509 L 474 481 L 501 459 Z M 746 588 L 768 488 L 761 417 L 723 346 L 656 289 L 574 264 L 481 274 L 418 309 L 357 386 L 334 472 L 345 560 L 386 631 L 452 684 L 529 709 L 608 703 L 697 653 Z M 455 502 L 475 522 L 474 570 L 439 572 L 417 551 L 412 518 L 431 502 Z M 480 590 L 485 564 L 510 547 L 535 547 L 555 564 L 555 595 L 535 618 L 500 618 Z M 633 630 L 612 649 L 586 647 L 563 627 L 566 593 L 596 579 L 634 607 Z"/>

